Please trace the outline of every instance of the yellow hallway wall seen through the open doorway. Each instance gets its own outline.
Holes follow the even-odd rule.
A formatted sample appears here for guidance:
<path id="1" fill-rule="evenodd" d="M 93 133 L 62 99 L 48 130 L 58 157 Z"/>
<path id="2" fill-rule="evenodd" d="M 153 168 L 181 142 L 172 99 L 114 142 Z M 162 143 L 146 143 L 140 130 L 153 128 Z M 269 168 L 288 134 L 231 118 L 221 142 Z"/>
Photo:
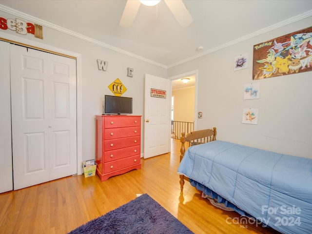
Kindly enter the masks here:
<path id="1" fill-rule="evenodd" d="M 174 120 L 194 122 L 195 86 L 173 90 L 172 96 L 175 97 Z"/>

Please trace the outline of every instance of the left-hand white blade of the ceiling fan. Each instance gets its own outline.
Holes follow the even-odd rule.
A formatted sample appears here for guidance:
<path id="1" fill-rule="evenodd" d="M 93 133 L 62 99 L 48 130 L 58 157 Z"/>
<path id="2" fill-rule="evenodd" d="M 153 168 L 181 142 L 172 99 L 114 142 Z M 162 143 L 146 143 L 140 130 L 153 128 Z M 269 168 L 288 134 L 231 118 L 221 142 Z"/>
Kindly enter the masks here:
<path id="1" fill-rule="evenodd" d="M 141 3 L 138 0 L 127 0 L 119 25 L 125 28 L 131 27 L 136 19 L 137 11 L 140 5 Z"/>

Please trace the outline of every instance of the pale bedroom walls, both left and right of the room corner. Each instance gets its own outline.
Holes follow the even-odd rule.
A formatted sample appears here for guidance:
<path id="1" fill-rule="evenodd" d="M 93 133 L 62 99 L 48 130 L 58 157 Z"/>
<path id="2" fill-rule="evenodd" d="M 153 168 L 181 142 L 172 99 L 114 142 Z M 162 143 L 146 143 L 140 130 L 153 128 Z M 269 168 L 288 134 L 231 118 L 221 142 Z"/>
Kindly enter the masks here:
<path id="1" fill-rule="evenodd" d="M 312 17 L 291 23 L 168 70 L 46 26 L 43 40 L 10 30 L 0 30 L 0 37 L 14 35 L 81 54 L 82 160 L 95 157 L 94 116 L 102 113 L 102 98 L 111 94 L 107 86 L 112 81 L 119 78 L 124 83 L 128 90 L 123 96 L 133 97 L 134 114 L 143 115 L 144 74 L 174 77 L 194 70 L 199 71 L 195 110 L 203 112 L 197 129 L 215 126 L 220 140 L 312 158 L 312 73 L 253 81 L 251 62 L 254 44 L 309 27 L 311 22 Z M 234 72 L 234 57 L 245 53 L 250 58 L 248 68 Z M 108 61 L 106 72 L 98 70 L 97 59 Z M 134 68 L 133 78 L 126 76 L 127 67 Z M 243 86 L 251 82 L 260 83 L 260 99 L 243 100 Z M 259 109 L 257 125 L 241 123 L 242 110 L 249 107 Z"/>

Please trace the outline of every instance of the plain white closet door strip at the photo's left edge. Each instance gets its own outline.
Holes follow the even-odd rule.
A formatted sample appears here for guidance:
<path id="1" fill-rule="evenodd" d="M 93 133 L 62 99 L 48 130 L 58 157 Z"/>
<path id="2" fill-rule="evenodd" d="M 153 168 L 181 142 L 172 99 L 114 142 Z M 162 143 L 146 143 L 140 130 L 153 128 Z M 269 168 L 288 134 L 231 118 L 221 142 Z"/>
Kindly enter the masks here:
<path id="1" fill-rule="evenodd" d="M 0 193 L 13 190 L 10 44 L 0 41 Z"/>

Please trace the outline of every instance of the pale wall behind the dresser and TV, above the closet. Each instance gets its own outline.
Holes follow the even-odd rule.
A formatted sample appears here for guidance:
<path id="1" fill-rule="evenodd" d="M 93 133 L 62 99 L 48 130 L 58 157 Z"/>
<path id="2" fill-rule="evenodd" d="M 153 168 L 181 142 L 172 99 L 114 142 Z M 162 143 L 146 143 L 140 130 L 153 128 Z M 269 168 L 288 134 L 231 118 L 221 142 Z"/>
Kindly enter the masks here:
<path id="1" fill-rule="evenodd" d="M 20 16 L 12 16 L 2 11 L 0 11 L 0 16 L 5 19 L 18 18 L 24 20 Z M 30 20 L 25 21 L 32 22 Z M 40 24 L 40 22 L 37 23 Z M 123 96 L 133 98 L 133 114 L 143 116 L 144 75 L 167 77 L 165 68 L 46 26 L 43 26 L 43 39 L 34 38 L 33 35 L 20 35 L 12 30 L 0 30 L 0 38 L 6 39 L 10 36 L 18 37 L 20 40 L 27 39 L 36 43 L 43 43 L 81 55 L 82 160 L 95 158 L 95 115 L 102 114 L 103 96 L 105 94 L 112 95 L 108 89 L 109 84 L 119 78 L 127 88 Z M 97 59 L 108 61 L 105 72 L 98 70 Z M 134 69 L 132 78 L 127 77 L 128 67 Z M 143 121 L 141 133 L 143 133 Z M 143 153 L 143 134 L 141 142 L 141 153 Z"/>

